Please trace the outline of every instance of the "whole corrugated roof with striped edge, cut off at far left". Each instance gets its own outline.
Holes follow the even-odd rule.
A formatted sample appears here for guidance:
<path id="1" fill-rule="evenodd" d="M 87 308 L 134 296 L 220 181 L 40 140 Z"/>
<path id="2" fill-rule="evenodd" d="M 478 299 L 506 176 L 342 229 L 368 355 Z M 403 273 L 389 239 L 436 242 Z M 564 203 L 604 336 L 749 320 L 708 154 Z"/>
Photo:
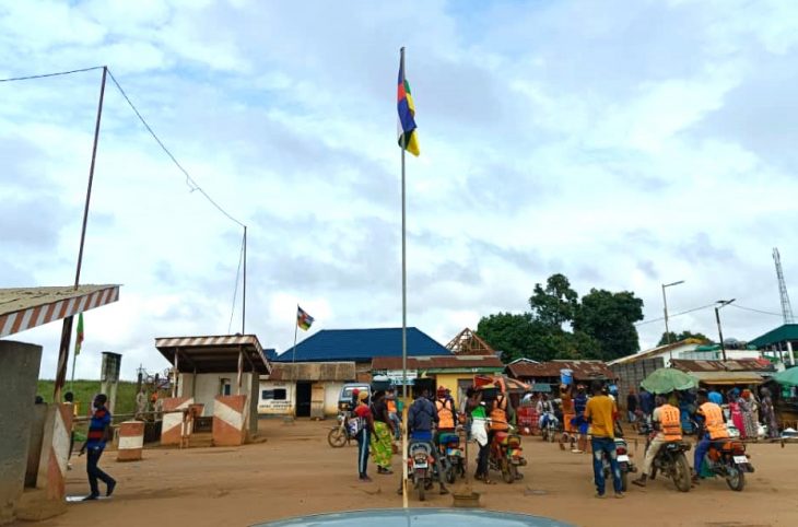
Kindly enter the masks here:
<path id="1" fill-rule="evenodd" d="M 119 300 L 119 285 L 0 289 L 0 337 Z"/>

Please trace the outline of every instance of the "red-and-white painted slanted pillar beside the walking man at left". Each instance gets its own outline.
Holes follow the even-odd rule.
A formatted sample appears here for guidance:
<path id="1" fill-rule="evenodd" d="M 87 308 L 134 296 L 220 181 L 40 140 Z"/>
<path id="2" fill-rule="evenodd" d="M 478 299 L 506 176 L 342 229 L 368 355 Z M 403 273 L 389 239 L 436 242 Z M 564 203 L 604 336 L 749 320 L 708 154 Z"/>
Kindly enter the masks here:
<path id="1" fill-rule="evenodd" d="M 63 500 L 72 430 L 72 405 L 48 405 L 36 488 L 48 500 Z"/>

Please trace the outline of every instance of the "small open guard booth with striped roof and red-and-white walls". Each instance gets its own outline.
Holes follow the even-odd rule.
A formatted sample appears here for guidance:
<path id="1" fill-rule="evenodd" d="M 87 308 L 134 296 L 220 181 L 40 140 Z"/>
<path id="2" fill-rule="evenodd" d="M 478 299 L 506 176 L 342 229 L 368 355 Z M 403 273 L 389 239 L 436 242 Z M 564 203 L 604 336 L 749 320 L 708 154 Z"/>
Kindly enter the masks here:
<path id="1" fill-rule="evenodd" d="M 255 335 L 157 338 L 155 348 L 174 379 L 162 445 L 189 446 L 195 432 L 210 430 L 213 446 L 236 446 L 258 432 L 260 375 L 271 367 Z"/>

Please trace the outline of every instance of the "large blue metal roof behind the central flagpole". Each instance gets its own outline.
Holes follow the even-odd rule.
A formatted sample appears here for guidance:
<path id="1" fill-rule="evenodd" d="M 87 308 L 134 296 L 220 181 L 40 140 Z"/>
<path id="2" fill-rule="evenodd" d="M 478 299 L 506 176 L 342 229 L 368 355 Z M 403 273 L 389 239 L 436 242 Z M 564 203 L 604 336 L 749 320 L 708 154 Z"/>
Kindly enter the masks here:
<path id="1" fill-rule="evenodd" d="M 450 355 L 451 352 L 418 328 L 408 328 L 408 356 Z M 401 356 L 402 329 L 322 329 L 296 344 L 296 361 L 369 362 L 375 356 Z M 275 362 L 294 360 L 293 347 L 269 358 Z"/>

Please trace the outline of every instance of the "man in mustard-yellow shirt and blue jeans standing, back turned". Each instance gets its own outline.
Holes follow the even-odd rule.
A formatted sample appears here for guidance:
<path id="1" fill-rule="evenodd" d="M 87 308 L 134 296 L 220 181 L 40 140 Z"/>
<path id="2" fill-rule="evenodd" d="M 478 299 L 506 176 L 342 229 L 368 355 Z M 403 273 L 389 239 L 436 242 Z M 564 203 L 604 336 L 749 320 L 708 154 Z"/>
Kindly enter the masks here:
<path id="1" fill-rule="evenodd" d="M 609 396 L 602 394 L 601 383 L 594 382 L 594 396 L 587 401 L 585 419 L 590 423 L 590 445 L 592 447 L 592 475 L 596 481 L 596 497 L 605 497 L 603 457 L 610 460 L 612 488 L 615 497 L 623 497 L 621 488 L 621 467 L 615 453 L 615 418 L 618 409 Z"/>

